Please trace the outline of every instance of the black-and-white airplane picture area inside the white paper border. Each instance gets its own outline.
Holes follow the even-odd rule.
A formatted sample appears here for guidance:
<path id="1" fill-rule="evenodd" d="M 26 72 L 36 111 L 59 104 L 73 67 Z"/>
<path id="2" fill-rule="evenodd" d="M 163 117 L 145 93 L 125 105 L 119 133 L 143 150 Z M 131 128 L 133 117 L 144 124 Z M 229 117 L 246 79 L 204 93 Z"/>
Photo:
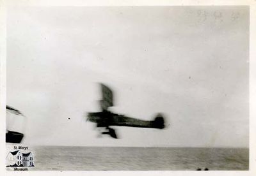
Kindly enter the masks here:
<path id="1" fill-rule="evenodd" d="M 6 8 L 6 170 L 249 170 L 250 6 Z"/>

